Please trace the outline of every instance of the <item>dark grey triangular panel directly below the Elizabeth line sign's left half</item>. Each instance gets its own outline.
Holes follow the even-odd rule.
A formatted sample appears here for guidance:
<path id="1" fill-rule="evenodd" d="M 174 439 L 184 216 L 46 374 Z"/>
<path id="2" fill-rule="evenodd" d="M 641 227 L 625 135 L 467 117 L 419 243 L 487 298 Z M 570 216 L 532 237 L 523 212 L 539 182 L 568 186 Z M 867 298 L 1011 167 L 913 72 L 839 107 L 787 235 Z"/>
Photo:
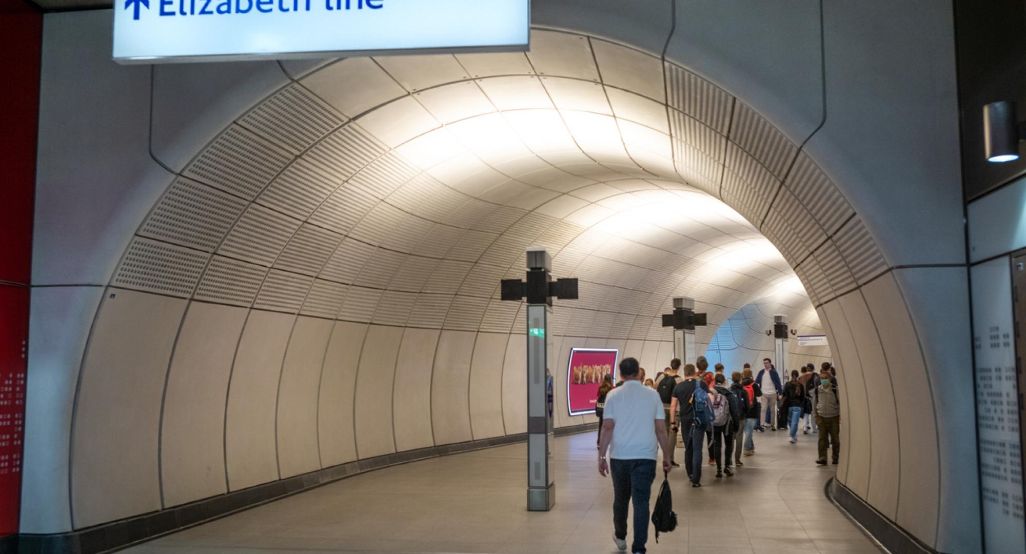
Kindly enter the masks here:
<path id="1" fill-rule="evenodd" d="M 226 125 L 288 83 L 276 62 L 152 68 L 153 154 L 175 171 Z"/>

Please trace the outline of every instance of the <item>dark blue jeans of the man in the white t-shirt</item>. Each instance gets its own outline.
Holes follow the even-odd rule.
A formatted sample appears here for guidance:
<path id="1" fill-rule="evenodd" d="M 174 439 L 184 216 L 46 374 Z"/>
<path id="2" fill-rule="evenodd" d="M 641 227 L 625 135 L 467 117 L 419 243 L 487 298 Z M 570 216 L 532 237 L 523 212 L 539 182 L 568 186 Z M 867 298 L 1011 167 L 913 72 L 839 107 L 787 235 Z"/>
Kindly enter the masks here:
<path id="1" fill-rule="evenodd" d="M 627 539 L 627 508 L 634 502 L 634 543 L 631 552 L 644 554 L 648 542 L 648 500 L 656 480 L 655 460 L 609 460 L 613 474 L 613 528 Z"/>

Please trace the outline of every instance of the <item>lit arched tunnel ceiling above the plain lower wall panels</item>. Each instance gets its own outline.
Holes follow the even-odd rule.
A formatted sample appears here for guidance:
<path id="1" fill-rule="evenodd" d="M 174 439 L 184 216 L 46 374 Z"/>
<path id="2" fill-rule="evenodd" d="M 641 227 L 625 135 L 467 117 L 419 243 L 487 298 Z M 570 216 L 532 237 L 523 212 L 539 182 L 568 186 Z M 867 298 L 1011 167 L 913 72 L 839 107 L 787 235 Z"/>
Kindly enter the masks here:
<path id="1" fill-rule="evenodd" d="M 686 295 L 710 314 L 708 343 L 789 266 L 814 304 L 885 269 L 822 171 L 722 89 L 604 40 L 531 41 L 319 67 L 195 157 L 112 284 L 515 332 L 498 282 L 544 245 L 583 281 L 555 332 L 663 339 L 658 316 Z"/>

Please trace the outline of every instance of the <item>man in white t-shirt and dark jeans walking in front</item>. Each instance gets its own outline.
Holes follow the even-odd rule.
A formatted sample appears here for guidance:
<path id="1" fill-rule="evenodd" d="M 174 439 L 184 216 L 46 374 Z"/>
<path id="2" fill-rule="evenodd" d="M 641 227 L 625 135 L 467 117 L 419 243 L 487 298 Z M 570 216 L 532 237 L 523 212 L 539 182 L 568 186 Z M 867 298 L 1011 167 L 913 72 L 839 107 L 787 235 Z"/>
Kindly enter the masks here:
<path id="1" fill-rule="evenodd" d="M 659 393 L 639 381 L 638 361 L 624 358 L 620 377 L 624 386 L 605 396 L 602 440 L 598 444 L 598 474 L 613 475 L 613 541 L 627 549 L 627 511 L 634 504 L 634 541 L 631 552 L 645 553 L 648 541 L 648 501 L 656 480 L 656 460 L 663 448 L 663 472 L 670 465 L 670 443 Z M 611 446 L 611 448 L 610 448 Z M 608 460 L 606 451 L 608 450 Z"/>

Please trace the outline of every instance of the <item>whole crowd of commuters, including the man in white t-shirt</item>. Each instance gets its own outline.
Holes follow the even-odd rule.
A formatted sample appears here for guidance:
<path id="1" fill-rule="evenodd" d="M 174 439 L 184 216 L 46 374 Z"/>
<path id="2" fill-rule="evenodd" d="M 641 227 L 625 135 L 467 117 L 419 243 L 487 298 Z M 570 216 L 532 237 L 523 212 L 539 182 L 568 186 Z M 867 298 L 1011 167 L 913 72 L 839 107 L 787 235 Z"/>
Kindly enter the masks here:
<path id="1" fill-rule="evenodd" d="M 832 463 L 838 462 L 840 397 L 829 362 L 822 364 L 819 373 L 813 364 L 793 370 L 787 382 L 782 382 L 768 358 L 754 378 L 747 363 L 729 378 L 719 363 L 709 371 L 702 356 L 694 365 L 683 366 L 675 358 L 655 380 L 645 379 L 634 358 L 625 358 L 619 367 L 621 381 L 614 386 L 606 375 L 599 387 L 596 413 L 598 471 L 613 478 L 613 539 L 620 550 L 627 549 L 627 514 L 633 503 L 631 552 L 645 552 L 658 451 L 663 450 L 664 472 L 679 467 L 674 456 L 678 433 L 693 488 L 702 486 L 705 445 L 716 477 L 733 477 L 735 469 L 744 466 L 742 456 L 755 454 L 756 431 L 787 429 L 793 444 L 802 421 L 804 434 L 820 435 L 816 464 L 827 465 L 828 450 Z"/>

